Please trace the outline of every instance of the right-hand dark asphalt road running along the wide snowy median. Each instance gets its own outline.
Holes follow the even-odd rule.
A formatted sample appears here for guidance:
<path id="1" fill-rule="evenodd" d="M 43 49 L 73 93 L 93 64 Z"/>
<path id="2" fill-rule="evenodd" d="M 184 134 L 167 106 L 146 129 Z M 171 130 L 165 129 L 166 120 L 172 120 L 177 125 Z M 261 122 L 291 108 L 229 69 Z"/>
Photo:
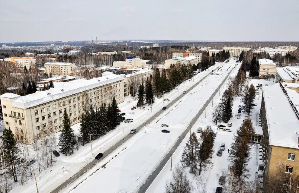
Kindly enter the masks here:
<path id="1" fill-rule="evenodd" d="M 227 80 L 228 76 L 230 75 L 231 71 L 233 70 L 233 68 L 230 70 L 230 72 L 227 74 L 226 78 L 222 81 L 222 83 L 219 85 L 219 87 L 217 87 L 217 89 L 214 91 L 214 93 L 212 94 L 212 96 L 207 100 L 207 104 L 209 104 L 213 97 L 216 95 L 216 93 L 219 91 L 220 87 L 224 84 L 224 82 Z M 199 112 L 196 114 L 196 116 L 192 119 L 192 121 L 190 122 L 189 126 L 186 128 L 186 130 L 178 137 L 178 140 L 175 142 L 175 144 L 170 148 L 172 150 L 169 150 L 169 152 L 167 153 L 167 155 L 163 158 L 163 160 L 160 162 L 160 164 L 156 167 L 156 169 L 153 171 L 153 173 L 146 179 L 146 182 L 140 187 L 138 193 L 144 193 L 146 192 L 146 190 L 150 187 L 150 185 L 153 183 L 153 181 L 155 180 L 155 178 L 158 176 L 158 174 L 160 173 L 160 171 L 163 169 L 163 167 L 166 165 L 166 163 L 168 162 L 168 160 L 171 157 L 172 152 L 174 152 L 179 144 L 182 143 L 183 139 L 185 138 L 185 136 L 187 135 L 187 133 L 189 132 L 189 130 L 192 128 L 193 124 L 195 124 L 195 122 L 198 120 L 198 118 L 200 117 L 200 115 L 204 112 L 205 110 L 205 106 L 203 106 Z"/>

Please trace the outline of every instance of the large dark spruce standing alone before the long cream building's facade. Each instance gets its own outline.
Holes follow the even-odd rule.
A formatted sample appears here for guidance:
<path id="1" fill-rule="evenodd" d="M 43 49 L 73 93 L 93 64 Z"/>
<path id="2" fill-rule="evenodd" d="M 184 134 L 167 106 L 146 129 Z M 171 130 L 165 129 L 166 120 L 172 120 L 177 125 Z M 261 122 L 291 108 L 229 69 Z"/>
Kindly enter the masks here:
<path id="1" fill-rule="evenodd" d="M 59 134 L 59 143 L 60 146 L 59 151 L 63 155 L 72 155 L 74 153 L 75 145 L 76 145 L 76 135 L 74 134 L 74 130 L 71 128 L 71 123 L 69 121 L 69 116 L 66 112 L 63 113 L 63 129 Z"/>

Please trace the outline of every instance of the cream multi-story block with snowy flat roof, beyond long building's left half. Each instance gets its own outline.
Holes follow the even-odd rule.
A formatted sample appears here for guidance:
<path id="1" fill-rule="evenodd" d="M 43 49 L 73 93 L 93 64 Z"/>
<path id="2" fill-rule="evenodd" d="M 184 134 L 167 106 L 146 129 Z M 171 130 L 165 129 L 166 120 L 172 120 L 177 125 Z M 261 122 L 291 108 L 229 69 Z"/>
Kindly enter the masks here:
<path id="1" fill-rule="evenodd" d="M 47 62 L 45 68 L 47 74 L 72 75 L 76 70 L 76 64 L 71 62 Z"/>

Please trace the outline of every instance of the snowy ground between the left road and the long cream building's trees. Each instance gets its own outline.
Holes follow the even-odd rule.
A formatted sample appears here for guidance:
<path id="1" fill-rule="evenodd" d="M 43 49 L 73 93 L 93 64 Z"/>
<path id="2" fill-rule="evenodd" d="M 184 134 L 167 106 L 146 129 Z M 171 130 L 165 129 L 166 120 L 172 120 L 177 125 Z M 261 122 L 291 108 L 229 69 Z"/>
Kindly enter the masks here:
<path id="1" fill-rule="evenodd" d="M 183 90 L 187 90 L 188 88 L 192 87 L 193 85 L 197 84 L 204 76 L 210 73 L 212 70 L 218 68 L 218 65 L 212 66 L 211 68 L 207 69 L 206 71 L 200 72 L 198 75 L 194 77 L 194 79 L 190 79 L 188 81 L 188 86 L 186 81 L 183 82 L 181 85 L 178 86 L 178 90 L 172 90 L 169 93 L 165 93 L 165 98 L 168 98 L 170 102 L 180 96 Z M 202 84 L 202 83 L 201 83 Z M 132 114 L 131 108 L 136 106 L 137 100 L 134 100 L 131 96 L 127 96 L 124 99 L 124 102 L 119 104 L 119 108 L 121 109 L 121 113 L 125 112 L 126 118 L 134 119 L 134 122 L 127 124 L 124 123 L 124 132 L 122 129 L 122 124 L 119 125 L 116 129 L 110 131 L 105 136 L 92 141 L 92 149 L 93 155 L 91 154 L 90 144 L 86 144 L 84 147 L 80 147 L 78 151 L 75 151 L 74 155 L 72 156 L 63 156 L 55 157 L 55 163 L 53 167 L 46 169 L 38 174 L 37 172 L 37 163 L 33 164 L 32 167 L 35 168 L 35 172 L 37 174 L 37 185 L 40 192 L 50 192 L 57 186 L 59 186 L 62 182 L 66 179 L 69 179 L 73 176 L 76 172 L 78 172 L 83 166 L 89 163 L 91 160 L 94 159 L 95 155 L 100 152 L 104 152 L 105 150 L 109 149 L 113 146 L 117 141 L 121 140 L 129 134 L 132 128 L 136 128 L 149 119 L 153 114 L 158 112 L 162 109 L 163 106 L 170 103 L 164 101 L 161 98 L 156 98 L 156 102 L 153 103 L 152 106 L 152 113 L 150 112 L 150 107 L 146 106 L 146 109 L 137 108 Z M 149 110 L 148 110 L 149 109 Z M 72 128 L 74 129 L 75 133 L 79 132 L 80 123 L 73 125 Z M 56 138 L 58 139 L 59 133 L 56 133 Z M 58 142 L 57 142 L 58 143 Z M 57 149 L 58 150 L 58 149 Z M 34 153 L 34 151 L 32 150 Z M 36 160 L 36 158 L 33 159 Z M 32 160 L 32 157 L 31 157 Z M 103 161 L 104 162 L 104 161 Z M 18 186 L 14 187 L 11 192 L 14 193 L 31 193 L 36 191 L 34 179 L 29 179 L 24 185 L 19 188 Z"/>

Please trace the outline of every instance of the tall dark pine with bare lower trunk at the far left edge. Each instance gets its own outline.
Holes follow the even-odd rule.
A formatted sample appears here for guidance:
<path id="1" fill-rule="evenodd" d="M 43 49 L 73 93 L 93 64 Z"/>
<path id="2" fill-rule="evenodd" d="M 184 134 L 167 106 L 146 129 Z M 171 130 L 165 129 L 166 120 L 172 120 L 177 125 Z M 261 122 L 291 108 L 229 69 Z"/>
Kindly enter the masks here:
<path id="1" fill-rule="evenodd" d="M 7 161 L 11 165 L 11 173 L 14 179 L 14 182 L 18 182 L 15 161 L 18 158 L 18 147 L 17 142 L 14 138 L 14 134 L 11 129 L 4 129 L 2 136 L 2 144 L 3 144 L 3 154 L 5 161 Z"/>

